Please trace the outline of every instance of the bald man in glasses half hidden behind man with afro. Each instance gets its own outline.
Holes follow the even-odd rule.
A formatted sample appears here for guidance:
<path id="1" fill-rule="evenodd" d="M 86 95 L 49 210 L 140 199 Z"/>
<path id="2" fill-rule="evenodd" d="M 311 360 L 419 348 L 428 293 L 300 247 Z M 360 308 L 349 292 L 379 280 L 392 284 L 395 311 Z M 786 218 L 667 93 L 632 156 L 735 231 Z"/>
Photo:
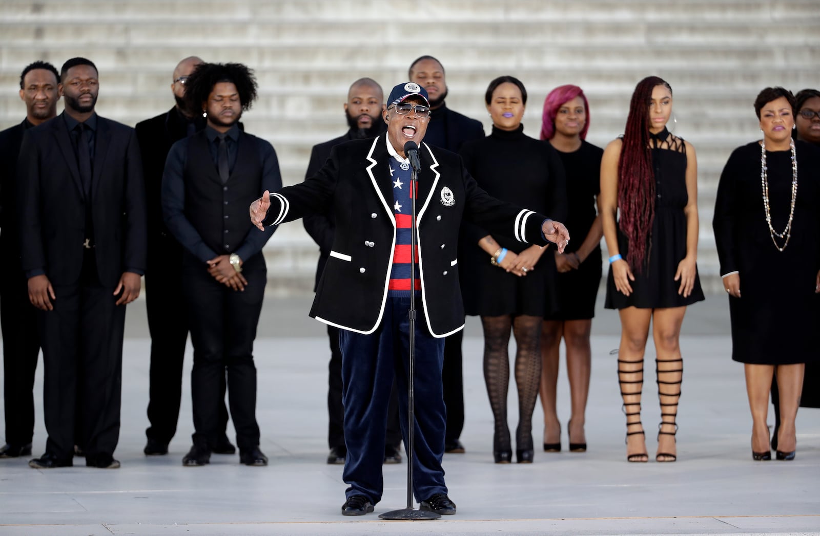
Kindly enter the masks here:
<path id="1" fill-rule="evenodd" d="M 148 330 L 151 333 L 151 368 L 148 387 L 147 456 L 168 453 L 168 443 L 176 433 L 182 398 L 182 365 L 188 325 L 182 295 L 182 247 L 162 222 L 160 189 L 165 160 L 171 145 L 205 128 L 205 118 L 185 107 L 185 84 L 194 68 L 203 61 L 186 57 L 174 69 L 171 92 L 175 106 L 171 110 L 137 123 L 137 139 L 143 156 L 145 193 L 148 202 L 148 270 L 145 272 L 145 299 L 148 308 Z M 221 377 L 221 400 L 225 399 L 225 375 Z M 219 407 L 219 439 L 212 446 L 218 454 L 233 454 L 225 428 L 228 409 Z"/>

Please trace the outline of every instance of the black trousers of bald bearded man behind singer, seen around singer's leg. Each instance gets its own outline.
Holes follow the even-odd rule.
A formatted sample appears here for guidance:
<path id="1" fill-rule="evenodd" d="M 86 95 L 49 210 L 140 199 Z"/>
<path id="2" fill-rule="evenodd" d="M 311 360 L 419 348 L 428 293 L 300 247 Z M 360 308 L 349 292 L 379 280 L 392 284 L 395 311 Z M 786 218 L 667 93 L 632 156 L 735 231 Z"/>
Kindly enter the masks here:
<path id="1" fill-rule="evenodd" d="M 327 379 L 327 444 L 330 448 L 344 447 L 344 405 L 342 404 L 342 351 L 339 348 L 339 328 L 327 326 L 330 341 L 330 363 Z M 390 393 L 387 405 L 387 433 L 385 443 L 396 447 L 402 444 L 402 429 L 399 425 L 399 397 L 396 386 Z"/>

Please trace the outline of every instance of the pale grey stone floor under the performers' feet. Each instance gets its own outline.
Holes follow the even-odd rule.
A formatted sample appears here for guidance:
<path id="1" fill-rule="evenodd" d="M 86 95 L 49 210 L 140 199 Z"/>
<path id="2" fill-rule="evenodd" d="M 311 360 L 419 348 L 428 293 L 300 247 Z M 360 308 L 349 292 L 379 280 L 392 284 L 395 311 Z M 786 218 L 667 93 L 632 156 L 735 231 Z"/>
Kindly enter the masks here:
<path id="1" fill-rule="evenodd" d="M 532 465 L 492 463 L 492 416 L 481 373 L 481 332 L 470 319 L 464 342 L 467 453 L 444 457 L 458 515 L 388 522 L 378 515 L 406 505 L 407 466 L 385 466 L 385 497 L 375 514 L 340 515 L 345 484 L 327 466 L 324 329 L 306 318 L 309 298 L 269 298 L 255 347 L 257 419 L 266 468 L 238 456 L 210 466 L 180 463 L 192 432 L 189 384 L 178 434 L 166 457 L 144 457 L 149 340 L 144 302 L 130 307 L 123 366 L 120 470 L 84 466 L 32 470 L 0 461 L 0 534 L 820 534 L 820 411 L 798 416 L 795 461 L 754 462 L 742 366 L 729 358 L 723 297 L 690 308 L 681 347 L 686 362 L 678 416 L 678 461 L 629 464 L 615 358 L 617 315 L 594 320 L 585 453 L 536 451 Z M 651 346 L 651 345 L 650 345 Z M 190 352 L 190 348 L 189 348 Z M 654 352 L 648 351 L 652 359 Z M 186 357 L 186 370 L 190 356 Z M 648 363 L 647 370 L 652 370 Z M 643 421 L 647 447 L 659 421 L 649 374 Z M 38 393 L 42 389 L 39 370 Z M 38 396 L 39 398 L 39 396 Z M 568 415 L 560 381 L 559 414 Z M 510 425 L 517 425 L 510 389 Z M 34 453 L 43 451 L 40 400 Z M 770 422 L 773 420 L 770 417 Z M 535 442 L 542 414 L 536 408 Z M 567 436 L 563 435 L 566 448 Z"/>

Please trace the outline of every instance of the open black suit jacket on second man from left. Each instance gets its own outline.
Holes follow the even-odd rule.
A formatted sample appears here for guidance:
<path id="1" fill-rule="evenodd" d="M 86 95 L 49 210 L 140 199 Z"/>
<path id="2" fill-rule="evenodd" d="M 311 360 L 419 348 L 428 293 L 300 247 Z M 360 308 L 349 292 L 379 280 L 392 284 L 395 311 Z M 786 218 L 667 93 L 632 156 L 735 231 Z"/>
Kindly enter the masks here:
<path id="1" fill-rule="evenodd" d="M 123 272 L 141 274 L 146 267 L 143 167 L 134 129 L 103 117 L 97 125 L 94 255 L 100 282 L 113 287 Z M 43 270 L 53 284 L 76 284 L 84 257 L 84 194 L 62 116 L 25 133 L 17 185 L 23 270 Z"/>

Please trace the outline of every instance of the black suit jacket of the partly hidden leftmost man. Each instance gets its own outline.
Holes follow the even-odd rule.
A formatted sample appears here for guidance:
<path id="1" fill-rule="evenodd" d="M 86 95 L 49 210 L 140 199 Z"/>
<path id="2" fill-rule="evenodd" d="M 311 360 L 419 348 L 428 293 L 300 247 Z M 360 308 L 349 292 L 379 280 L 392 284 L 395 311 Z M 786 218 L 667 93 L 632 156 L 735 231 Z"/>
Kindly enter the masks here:
<path id="1" fill-rule="evenodd" d="M 20 271 L 20 229 L 17 225 L 17 157 L 23 143 L 26 120 L 0 132 L 0 249 L 15 257 L 14 269 Z M 7 261 L 11 261 L 7 259 Z M 3 266 L 8 266 L 4 262 Z"/>

